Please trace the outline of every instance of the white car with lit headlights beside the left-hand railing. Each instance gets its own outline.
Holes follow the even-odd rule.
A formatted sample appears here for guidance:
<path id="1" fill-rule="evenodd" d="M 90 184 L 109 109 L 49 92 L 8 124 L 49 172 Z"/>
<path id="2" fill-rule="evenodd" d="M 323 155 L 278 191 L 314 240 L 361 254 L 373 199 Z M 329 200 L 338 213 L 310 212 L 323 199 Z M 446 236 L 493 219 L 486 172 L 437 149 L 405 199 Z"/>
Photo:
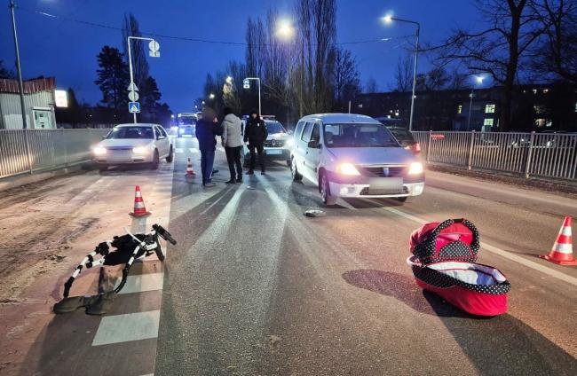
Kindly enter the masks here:
<path id="1" fill-rule="evenodd" d="M 115 126 L 92 147 L 91 153 L 101 171 L 109 166 L 138 163 L 147 163 L 156 169 L 161 158 L 172 161 L 174 149 L 162 126 L 133 123 Z"/>

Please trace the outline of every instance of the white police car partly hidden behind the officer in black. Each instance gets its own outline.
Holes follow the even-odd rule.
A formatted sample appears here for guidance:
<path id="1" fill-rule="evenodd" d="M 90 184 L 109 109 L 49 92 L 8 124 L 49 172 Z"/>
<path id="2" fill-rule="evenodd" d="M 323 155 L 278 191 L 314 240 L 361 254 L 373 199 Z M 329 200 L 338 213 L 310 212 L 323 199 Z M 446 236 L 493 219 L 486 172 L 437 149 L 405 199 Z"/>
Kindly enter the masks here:
<path id="1" fill-rule="evenodd" d="M 290 167 L 290 150 L 293 145 L 293 137 L 279 121 L 274 120 L 271 116 L 264 116 L 268 137 L 265 141 L 266 161 L 285 161 Z M 242 134 L 248 119 L 241 121 Z M 242 163 L 247 166 L 250 161 L 249 145 L 242 145 L 241 153 Z"/>

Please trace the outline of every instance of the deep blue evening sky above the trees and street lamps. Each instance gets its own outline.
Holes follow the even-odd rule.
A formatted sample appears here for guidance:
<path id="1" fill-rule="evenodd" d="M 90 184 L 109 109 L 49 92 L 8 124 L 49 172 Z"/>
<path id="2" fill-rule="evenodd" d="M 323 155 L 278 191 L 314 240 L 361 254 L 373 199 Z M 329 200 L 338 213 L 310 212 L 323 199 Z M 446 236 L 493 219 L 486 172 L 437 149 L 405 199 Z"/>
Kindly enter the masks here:
<path id="1" fill-rule="evenodd" d="M 249 16 L 263 16 L 270 7 L 290 17 L 292 0 L 17 0 L 22 8 L 43 11 L 76 20 L 122 27 L 124 12 L 133 12 L 144 33 L 181 35 L 231 42 L 244 42 Z M 13 66 L 14 50 L 8 0 L 0 7 L 0 59 Z M 406 53 L 407 38 L 415 28 L 408 24 L 383 25 L 380 17 L 393 11 L 399 18 L 418 20 L 424 42 L 442 40 L 452 28 L 474 27 L 478 21 L 472 1 L 464 0 L 342 0 L 338 1 L 338 42 L 392 39 L 380 43 L 348 44 L 357 57 L 363 84 L 375 78 L 381 90 L 393 81 L 399 56 Z M 80 100 L 100 99 L 96 78 L 96 55 L 105 44 L 121 48 L 121 32 L 91 27 L 67 20 L 55 20 L 17 10 L 20 57 L 24 78 L 56 76 L 59 88 L 72 87 Z M 244 46 L 157 39 L 160 59 L 149 59 L 151 74 L 162 91 L 162 100 L 175 112 L 192 109 L 194 98 L 202 95 L 208 72 L 223 69 L 230 59 L 243 59 Z M 423 60 L 421 70 L 428 63 Z"/>

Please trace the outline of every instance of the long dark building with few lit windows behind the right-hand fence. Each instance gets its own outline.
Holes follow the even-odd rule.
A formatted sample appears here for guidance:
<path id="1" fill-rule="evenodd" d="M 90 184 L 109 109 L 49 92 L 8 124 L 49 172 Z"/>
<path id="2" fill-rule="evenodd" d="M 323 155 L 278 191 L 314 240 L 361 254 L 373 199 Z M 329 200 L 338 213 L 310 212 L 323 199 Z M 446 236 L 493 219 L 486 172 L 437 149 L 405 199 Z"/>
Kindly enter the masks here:
<path id="1" fill-rule="evenodd" d="M 413 129 L 497 131 L 501 92 L 500 87 L 417 91 Z M 353 111 L 408 123 L 410 98 L 410 92 L 361 94 L 355 98 Z M 510 129 L 577 132 L 577 88 L 563 82 L 517 86 Z"/>

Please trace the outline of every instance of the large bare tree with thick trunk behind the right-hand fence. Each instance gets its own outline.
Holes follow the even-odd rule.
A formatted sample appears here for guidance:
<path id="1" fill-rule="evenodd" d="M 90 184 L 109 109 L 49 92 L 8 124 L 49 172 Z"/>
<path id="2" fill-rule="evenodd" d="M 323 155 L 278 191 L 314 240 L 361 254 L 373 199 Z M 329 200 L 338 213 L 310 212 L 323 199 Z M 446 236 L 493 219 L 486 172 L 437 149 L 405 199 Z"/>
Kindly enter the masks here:
<path id="1" fill-rule="evenodd" d="M 529 0 L 477 0 L 486 27 L 459 29 L 438 49 L 439 60 L 459 60 L 473 72 L 493 76 L 502 85 L 500 130 L 508 131 L 511 100 L 518 69 L 527 52 L 542 34 Z"/>

